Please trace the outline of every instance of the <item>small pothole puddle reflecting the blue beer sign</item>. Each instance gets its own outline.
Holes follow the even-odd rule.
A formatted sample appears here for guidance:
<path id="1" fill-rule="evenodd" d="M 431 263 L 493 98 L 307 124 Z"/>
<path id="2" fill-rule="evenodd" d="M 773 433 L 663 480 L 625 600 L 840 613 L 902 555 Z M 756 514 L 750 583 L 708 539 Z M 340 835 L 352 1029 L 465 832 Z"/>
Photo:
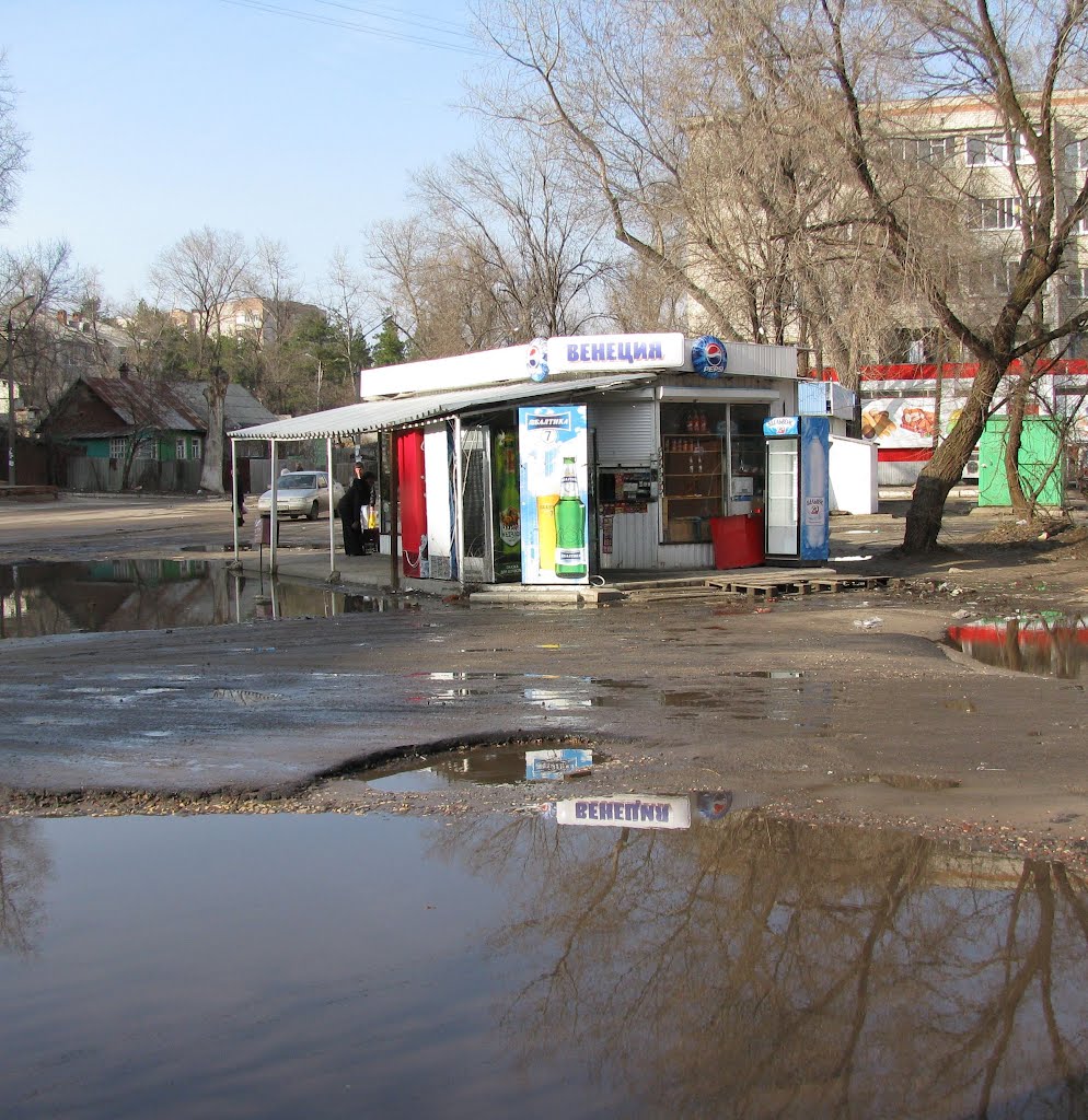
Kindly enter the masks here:
<path id="1" fill-rule="evenodd" d="M 468 747 L 393 768 L 366 785 L 383 793 L 440 793 L 453 785 L 522 785 L 577 780 L 606 756 L 589 747 L 527 747 L 524 744 Z"/>

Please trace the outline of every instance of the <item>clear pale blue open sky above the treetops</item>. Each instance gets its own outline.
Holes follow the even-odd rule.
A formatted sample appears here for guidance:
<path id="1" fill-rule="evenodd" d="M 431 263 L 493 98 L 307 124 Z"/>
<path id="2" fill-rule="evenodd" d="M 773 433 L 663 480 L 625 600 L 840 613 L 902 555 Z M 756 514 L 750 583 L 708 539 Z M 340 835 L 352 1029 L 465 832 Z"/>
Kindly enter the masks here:
<path id="1" fill-rule="evenodd" d="M 66 239 L 117 307 L 207 225 L 281 241 L 313 293 L 472 147 L 468 26 L 467 0 L 3 0 L 29 158 L 0 244 Z"/>

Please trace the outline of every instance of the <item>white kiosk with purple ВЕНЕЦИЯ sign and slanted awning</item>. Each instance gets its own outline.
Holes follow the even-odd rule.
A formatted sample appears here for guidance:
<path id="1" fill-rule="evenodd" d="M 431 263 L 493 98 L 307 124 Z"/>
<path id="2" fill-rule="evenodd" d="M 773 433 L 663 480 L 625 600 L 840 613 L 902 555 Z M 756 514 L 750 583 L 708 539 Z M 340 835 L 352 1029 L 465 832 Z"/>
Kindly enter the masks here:
<path id="1" fill-rule="evenodd" d="M 239 437 L 381 432 L 396 448 L 383 551 L 401 575 L 570 586 L 714 568 L 713 520 L 762 513 L 763 423 L 797 412 L 797 352 L 678 333 L 540 338 L 363 371 L 360 390 L 359 404 Z"/>

